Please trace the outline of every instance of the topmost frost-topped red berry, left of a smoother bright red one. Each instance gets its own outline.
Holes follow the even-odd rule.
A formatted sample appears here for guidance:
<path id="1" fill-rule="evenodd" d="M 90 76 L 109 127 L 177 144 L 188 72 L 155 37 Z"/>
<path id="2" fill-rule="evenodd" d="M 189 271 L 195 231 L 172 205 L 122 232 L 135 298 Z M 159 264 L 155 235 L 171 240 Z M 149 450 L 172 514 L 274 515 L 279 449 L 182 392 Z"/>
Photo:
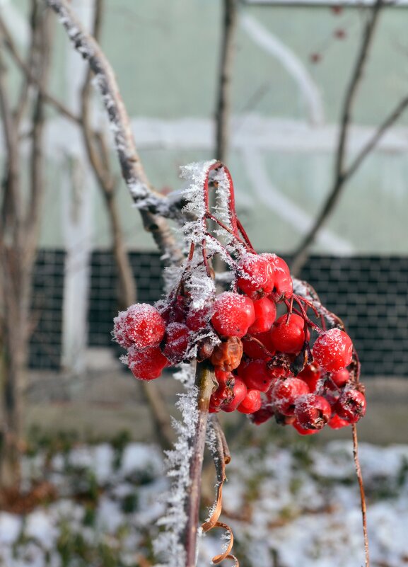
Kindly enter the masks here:
<path id="1" fill-rule="evenodd" d="M 237 285 L 249 297 L 257 299 L 272 292 L 274 277 L 267 254 L 245 254 L 239 269 L 242 275 L 238 277 Z"/>

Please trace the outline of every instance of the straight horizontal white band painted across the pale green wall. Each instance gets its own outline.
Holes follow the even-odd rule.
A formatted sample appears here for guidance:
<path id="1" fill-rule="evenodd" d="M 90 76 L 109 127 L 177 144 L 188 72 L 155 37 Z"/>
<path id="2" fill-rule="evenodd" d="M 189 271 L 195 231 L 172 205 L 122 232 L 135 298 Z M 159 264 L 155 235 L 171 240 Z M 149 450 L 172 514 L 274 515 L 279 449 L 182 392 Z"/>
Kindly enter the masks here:
<path id="1" fill-rule="evenodd" d="M 98 120 L 95 120 L 98 124 Z M 234 126 L 237 127 L 234 127 Z M 138 149 L 192 149 L 214 148 L 214 121 L 209 118 L 132 119 L 132 130 Z M 376 128 L 350 127 L 349 156 L 356 154 L 368 142 Z M 235 116 L 232 120 L 231 149 L 251 147 L 282 154 L 332 154 L 338 139 L 338 126 L 334 124 L 310 127 L 302 120 L 281 120 L 261 115 Z M 234 133 L 235 132 L 235 133 Z M 58 159 L 66 154 L 83 155 L 81 132 L 65 118 L 54 118 L 46 125 L 47 155 Z M 3 151 L 0 129 L 0 150 Z M 375 152 L 407 154 L 408 128 L 395 127 L 380 140 Z"/>

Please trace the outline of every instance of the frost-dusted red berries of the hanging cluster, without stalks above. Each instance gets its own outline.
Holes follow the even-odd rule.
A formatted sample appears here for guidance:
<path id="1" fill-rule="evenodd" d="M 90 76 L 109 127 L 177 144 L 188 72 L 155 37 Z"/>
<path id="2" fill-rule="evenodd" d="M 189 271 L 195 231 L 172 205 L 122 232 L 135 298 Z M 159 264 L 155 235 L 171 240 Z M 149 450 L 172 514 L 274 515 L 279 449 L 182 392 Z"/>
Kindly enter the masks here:
<path id="1" fill-rule="evenodd" d="M 233 291 L 202 309 L 194 309 L 179 286 L 160 310 L 136 304 L 117 316 L 114 336 L 127 348 L 134 376 L 155 379 L 164 367 L 194 357 L 215 370 L 210 412 L 236 409 L 252 414 L 256 424 L 274 416 L 303 435 L 327 423 L 341 428 L 359 420 L 366 399 L 352 368 L 349 336 L 336 327 L 325 331 L 309 318 L 313 304 L 293 294 L 288 265 L 279 256 L 245 253 L 235 273 Z M 286 312 L 276 319 L 278 306 Z M 192 350 L 208 330 L 218 344 L 204 338 Z"/>

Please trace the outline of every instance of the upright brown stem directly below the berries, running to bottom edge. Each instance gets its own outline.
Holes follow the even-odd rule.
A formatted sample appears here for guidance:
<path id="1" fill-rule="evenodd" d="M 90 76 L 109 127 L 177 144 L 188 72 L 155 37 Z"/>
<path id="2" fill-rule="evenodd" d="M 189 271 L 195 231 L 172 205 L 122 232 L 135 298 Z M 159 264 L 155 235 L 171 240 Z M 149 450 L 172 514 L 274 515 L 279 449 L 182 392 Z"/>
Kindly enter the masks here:
<path id="1" fill-rule="evenodd" d="M 185 567 L 195 567 L 197 550 L 197 529 L 199 524 L 199 503 L 201 497 L 202 463 L 206 440 L 209 399 L 214 387 L 214 371 L 206 362 L 197 363 L 196 381 L 198 388 L 198 418 L 192 438 L 190 459 L 190 487 L 186 501 L 187 523 L 185 529 Z"/>

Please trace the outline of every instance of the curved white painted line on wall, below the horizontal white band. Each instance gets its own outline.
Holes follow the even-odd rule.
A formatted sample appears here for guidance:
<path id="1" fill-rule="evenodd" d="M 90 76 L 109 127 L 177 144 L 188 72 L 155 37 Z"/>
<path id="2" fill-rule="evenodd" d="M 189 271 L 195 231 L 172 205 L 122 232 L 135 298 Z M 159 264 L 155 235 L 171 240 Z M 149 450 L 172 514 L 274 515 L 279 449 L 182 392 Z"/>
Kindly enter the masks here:
<path id="1" fill-rule="evenodd" d="M 312 227 L 313 219 L 296 202 L 293 202 L 274 187 L 269 179 L 260 152 L 247 148 L 241 150 L 241 155 L 252 189 L 260 202 L 263 202 L 275 214 L 291 224 L 298 233 L 306 234 Z M 317 242 L 324 246 L 327 251 L 339 255 L 347 255 L 354 251 L 354 247 L 349 241 L 324 228 L 317 234 Z"/>

